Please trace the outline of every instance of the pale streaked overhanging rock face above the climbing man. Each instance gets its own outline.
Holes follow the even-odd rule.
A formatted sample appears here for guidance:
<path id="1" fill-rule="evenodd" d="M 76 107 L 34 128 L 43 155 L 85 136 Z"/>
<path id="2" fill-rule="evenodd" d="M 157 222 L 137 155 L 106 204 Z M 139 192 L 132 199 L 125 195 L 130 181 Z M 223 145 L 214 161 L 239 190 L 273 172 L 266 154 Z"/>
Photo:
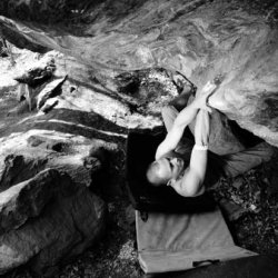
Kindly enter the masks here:
<path id="1" fill-rule="evenodd" d="M 200 87 L 224 75 L 211 106 L 278 146 L 276 1 L 3 0 L 0 10 L 2 33 L 75 56 L 99 78 L 162 67 Z"/>

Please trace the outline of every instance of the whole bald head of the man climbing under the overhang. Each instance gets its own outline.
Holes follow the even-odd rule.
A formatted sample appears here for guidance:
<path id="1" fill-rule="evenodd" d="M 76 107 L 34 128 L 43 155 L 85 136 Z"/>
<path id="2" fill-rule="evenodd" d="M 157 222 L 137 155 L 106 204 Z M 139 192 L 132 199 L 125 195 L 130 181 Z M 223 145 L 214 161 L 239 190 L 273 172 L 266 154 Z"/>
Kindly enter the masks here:
<path id="1" fill-rule="evenodd" d="M 148 167 L 147 179 L 152 186 L 167 185 L 179 177 L 183 166 L 185 162 L 180 158 L 162 157 Z"/>

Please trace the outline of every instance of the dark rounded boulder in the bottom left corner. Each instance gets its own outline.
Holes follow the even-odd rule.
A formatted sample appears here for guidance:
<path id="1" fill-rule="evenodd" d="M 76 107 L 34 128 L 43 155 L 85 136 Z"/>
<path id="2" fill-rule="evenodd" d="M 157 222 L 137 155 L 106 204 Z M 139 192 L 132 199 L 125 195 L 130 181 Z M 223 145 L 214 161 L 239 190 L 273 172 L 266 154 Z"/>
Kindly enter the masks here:
<path id="1" fill-rule="evenodd" d="M 27 261 L 46 276 L 103 232 L 105 202 L 53 169 L 0 193 L 0 274 Z"/>

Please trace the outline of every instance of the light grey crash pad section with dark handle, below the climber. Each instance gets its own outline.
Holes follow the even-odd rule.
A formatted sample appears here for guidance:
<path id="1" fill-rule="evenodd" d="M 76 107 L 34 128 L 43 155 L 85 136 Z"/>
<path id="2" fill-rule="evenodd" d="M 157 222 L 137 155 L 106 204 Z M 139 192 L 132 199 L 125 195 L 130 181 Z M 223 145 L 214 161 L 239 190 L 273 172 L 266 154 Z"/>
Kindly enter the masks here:
<path id="1" fill-rule="evenodd" d="M 237 247 L 218 208 L 200 214 L 136 210 L 139 262 L 146 274 L 178 271 L 257 254 Z"/>

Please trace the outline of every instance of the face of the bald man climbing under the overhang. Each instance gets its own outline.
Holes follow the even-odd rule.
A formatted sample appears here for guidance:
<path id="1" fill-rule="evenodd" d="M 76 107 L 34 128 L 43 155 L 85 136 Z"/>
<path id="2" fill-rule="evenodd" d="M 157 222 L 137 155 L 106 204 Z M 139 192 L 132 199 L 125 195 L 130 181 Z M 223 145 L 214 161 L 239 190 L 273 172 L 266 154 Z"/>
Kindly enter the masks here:
<path id="1" fill-rule="evenodd" d="M 166 181 L 177 179 L 183 170 L 183 160 L 180 158 L 160 158 L 157 161 L 159 176 Z"/>

